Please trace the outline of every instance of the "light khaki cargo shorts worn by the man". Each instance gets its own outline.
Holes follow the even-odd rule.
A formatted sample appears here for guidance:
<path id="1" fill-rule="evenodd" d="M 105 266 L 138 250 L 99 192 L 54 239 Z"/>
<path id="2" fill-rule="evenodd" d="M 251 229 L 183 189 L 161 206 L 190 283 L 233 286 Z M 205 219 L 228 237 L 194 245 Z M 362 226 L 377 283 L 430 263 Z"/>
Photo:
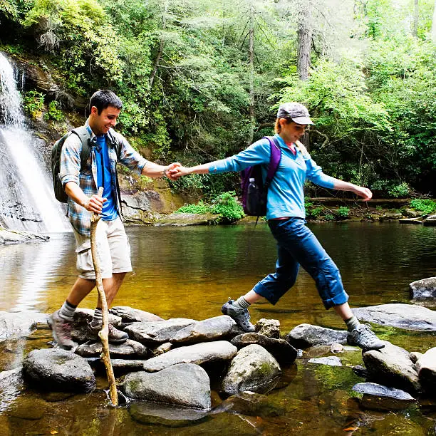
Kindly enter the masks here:
<path id="1" fill-rule="evenodd" d="M 77 270 L 79 277 L 95 280 L 90 239 L 74 231 L 76 237 Z M 101 278 L 110 279 L 112 273 L 132 271 L 130 244 L 120 217 L 113 221 L 100 221 L 97 224 L 97 250 L 100 259 Z"/>

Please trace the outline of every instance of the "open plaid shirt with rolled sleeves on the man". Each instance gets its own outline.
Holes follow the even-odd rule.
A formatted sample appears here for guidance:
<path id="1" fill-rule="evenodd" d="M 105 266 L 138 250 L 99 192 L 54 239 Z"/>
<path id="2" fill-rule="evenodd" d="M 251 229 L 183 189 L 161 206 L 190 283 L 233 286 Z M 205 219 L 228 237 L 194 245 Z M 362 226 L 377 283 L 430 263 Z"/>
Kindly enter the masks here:
<path id="1" fill-rule="evenodd" d="M 69 135 L 62 147 L 61 154 L 61 171 L 60 176 L 62 180 L 62 186 L 65 188 L 66 183 L 75 182 L 85 195 L 90 197 L 93 194 L 97 194 L 97 165 L 95 163 L 95 145 L 97 145 L 96 137 L 89 127 L 88 120 L 86 120 L 85 127 L 90 132 L 90 155 L 88 162 L 81 172 L 81 150 L 82 142 L 78 135 Z M 147 160 L 142 157 L 138 152 L 133 150 L 133 147 L 128 141 L 116 133 L 115 130 L 110 129 L 106 135 L 106 141 L 108 142 L 109 160 L 110 160 L 110 172 L 112 176 L 113 197 L 116 199 L 116 206 L 118 214 L 120 214 L 120 204 L 118 201 L 118 195 L 116 192 L 117 175 L 116 164 L 120 162 L 126 167 L 130 168 L 137 174 L 141 174 L 142 169 L 145 167 Z M 110 137 L 120 143 L 120 156 L 118 159 L 115 147 L 110 141 Z M 88 212 L 84 207 L 77 204 L 73 199 L 68 197 L 68 217 L 73 225 L 74 229 L 83 236 L 90 236 L 90 216 L 91 212 Z"/>

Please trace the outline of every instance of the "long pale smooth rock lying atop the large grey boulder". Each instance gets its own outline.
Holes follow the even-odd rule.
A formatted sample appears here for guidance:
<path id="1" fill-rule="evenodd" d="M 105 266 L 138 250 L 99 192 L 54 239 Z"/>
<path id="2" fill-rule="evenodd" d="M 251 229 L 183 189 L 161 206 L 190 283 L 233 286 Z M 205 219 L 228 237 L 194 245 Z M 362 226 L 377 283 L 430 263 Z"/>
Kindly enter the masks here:
<path id="1" fill-rule="evenodd" d="M 203 363 L 222 362 L 232 360 L 238 350 L 227 341 L 196 343 L 170 350 L 165 354 L 151 358 L 144 363 L 144 369 L 150 373 L 160 371 L 177 363 Z"/>

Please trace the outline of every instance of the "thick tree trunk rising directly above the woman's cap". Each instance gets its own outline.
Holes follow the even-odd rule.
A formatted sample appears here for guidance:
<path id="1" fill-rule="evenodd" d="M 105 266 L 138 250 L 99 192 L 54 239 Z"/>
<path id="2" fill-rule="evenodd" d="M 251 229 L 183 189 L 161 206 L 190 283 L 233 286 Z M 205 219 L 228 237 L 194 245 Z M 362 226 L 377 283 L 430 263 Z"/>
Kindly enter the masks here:
<path id="1" fill-rule="evenodd" d="M 313 28 L 311 23 L 312 5 L 311 0 L 305 0 L 301 4 L 298 21 L 298 51 L 297 51 L 297 71 L 299 78 L 306 81 L 309 76 L 311 66 L 311 48 Z"/>

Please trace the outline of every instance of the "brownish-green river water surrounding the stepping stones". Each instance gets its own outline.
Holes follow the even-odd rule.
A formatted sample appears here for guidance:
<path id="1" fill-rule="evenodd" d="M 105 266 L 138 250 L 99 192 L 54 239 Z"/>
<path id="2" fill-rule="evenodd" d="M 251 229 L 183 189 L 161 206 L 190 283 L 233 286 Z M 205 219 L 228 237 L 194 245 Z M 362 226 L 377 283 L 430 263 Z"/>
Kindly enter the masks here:
<path id="1" fill-rule="evenodd" d="M 436 275 L 436 229 L 400 224 L 328 223 L 311 229 L 336 261 L 351 306 L 409 303 L 410 281 Z M 232 227 L 130 227 L 135 274 L 125 280 L 115 305 L 133 306 L 163 318 L 204 319 L 220 314 L 228 296 L 237 298 L 274 270 L 276 247 L 265 224 Z M 0 310 L 56 310 L 76 279 L 73 235 L 54 235 L 45 244 L 0 247 Z M 247 254 L 248 251 L 248 254 Z M 93 308 L 96 296 L 83 307 Z M 435 308 L 435 306 L 430 306 Z M 259 304 L 254 321 L 277 318 L 281 333 L 299 323 L 342 328 L 326 311 L 304 271 L 276 306 Z M 408 351 L 436 346 L 435 335 L 375 326 L 375 331 Z M 0 343 L 0 370 L 19 365 L 33 348 L 46 346 L 50 331 Z M 306 357 L 306 356 L 303 356 Z M 308 356 L 307 356 L 308 357 Z M 0 400 L 0 435 L 432 435 L 436 406 L 402 412 L 368 412 L 353 400 L 351 387 L 363 381 L 351 365 L 358 351 L 340 355 L 343 367 L 299 360 L 268 395 L 268 407 L 245 413 L 223 412 L 195 425 L 171 428 L 133 420 L 128 408 L 107 407 L 105 380 L 90 395 L 51 398 L 13 387 Z M 222 401 L 216 393 L 214 405 Z M 244 411 L 242 411 L 244 412 Z M 348 430 L 344 430 L 348 429 Z M 57 433 L 55 433 L 57 432 Z"/>

